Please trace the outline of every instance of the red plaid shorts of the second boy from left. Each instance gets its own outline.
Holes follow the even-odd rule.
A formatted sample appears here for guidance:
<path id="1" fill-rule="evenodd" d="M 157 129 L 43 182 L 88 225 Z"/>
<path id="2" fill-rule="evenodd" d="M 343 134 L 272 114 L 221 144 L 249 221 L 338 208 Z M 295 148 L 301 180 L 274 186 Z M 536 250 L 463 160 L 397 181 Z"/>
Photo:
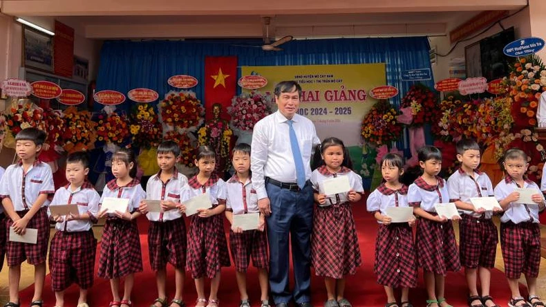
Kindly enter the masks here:
<path id="1" fill-rule="evenodd" d="M 62 291 L 72 283 L 79 288 L 93 286 L 97 239 L 93 230 L 86 232 L 63 232 L 57 230 L 49 248 L 49 270 L 51 288 Z"/>

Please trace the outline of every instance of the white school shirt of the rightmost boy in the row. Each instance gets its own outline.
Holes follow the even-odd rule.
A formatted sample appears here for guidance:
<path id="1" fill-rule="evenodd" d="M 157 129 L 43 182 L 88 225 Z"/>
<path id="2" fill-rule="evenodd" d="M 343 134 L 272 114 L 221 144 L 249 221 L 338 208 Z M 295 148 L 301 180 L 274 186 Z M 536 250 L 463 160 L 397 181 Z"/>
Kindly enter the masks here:
<path id="1" fill-rule="evenodd" d="M 536 183 L 529 180 L 528 178 L 525 178 L 525 183 L 523 187 L 536 189 L 536 194 L 540 194 L 544 201 L 544 196 L 542 192 L 540 192 L 540 189 L 538 188 L 538 185 L 536 185 Z M 510 176 L 506 176 L 505 179 L 501 180 L 500 183 L 498 183 L 498 185 L 495 187 L 495 197 L 497 198 L 497 201 L 502 201 L 502 199 L 507 198 L 507 196 L 509 196 L 509 194 L 511 194 L 511 192 L 514 192 L 517 188 L 518 185 L 516 184 L 516 181 L 514 181 Z M 516 203 L 513 201 L 509 203 L 507 209 L 505 210 L 505 213 L 502 214 L 502 216 L 500 217 L 500 221 L 502 223 L 511 221 L 514 224 L 522 222 L 539 223 L 538 204 L 529 205 Z"/>

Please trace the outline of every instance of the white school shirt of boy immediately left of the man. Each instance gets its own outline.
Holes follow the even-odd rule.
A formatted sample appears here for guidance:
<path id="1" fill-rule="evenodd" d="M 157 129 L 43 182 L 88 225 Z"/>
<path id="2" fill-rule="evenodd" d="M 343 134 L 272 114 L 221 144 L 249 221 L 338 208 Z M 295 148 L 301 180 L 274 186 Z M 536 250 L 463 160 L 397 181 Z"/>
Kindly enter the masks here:
<path id="1" fill-rule="evenodd" d="M 249 177 L 245 183 L 241 183 L 237 174 L 227 180 L 225 184 L 226 210 L 233 214 L 245 214 L 260 212 L 258 209 L 258 195 Z"/>

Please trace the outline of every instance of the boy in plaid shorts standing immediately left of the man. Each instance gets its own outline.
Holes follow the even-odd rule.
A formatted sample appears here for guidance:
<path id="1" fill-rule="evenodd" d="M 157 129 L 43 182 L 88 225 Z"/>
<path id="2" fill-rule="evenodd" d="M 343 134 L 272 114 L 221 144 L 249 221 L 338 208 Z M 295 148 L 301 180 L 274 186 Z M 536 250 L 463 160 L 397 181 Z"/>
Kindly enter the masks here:
<path id="1" fill-rule="evenodd" d="M 241 230 L 233 226 L 233 216 L 258 213 L 258 196 L 252 186 L 250 174 L 250 145 L 240 143 L 232 151 L 232 164 L 235 174 L 227 180 L 225 216 L 232 224 L 229 232 L 229 245 L 236 267 L 236 279 L 241 292 L 240 307 L 250 307 L 246 287 L 246 271 L 252 256 L 252 264 L 258 268 L 258 281 L 261 288 L 261 307 L 270 307 L 267 297 L 267 238 L 264 232 L 265 217 L 260 215 L 258 230 Z"/>

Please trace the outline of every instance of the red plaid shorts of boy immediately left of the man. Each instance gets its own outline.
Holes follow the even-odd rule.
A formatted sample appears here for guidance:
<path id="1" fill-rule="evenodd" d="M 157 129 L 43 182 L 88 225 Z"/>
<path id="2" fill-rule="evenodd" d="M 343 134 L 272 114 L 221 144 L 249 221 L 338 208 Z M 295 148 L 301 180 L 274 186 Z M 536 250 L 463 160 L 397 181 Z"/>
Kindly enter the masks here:
<path id="1" fill-rule="evenodd" d="M 269 268 L 265 231 L 247 230 L 241 234 L 229 232 L 229 248 L 237 272 L 246 272 L 252 257 L 254 268 Z"/>

